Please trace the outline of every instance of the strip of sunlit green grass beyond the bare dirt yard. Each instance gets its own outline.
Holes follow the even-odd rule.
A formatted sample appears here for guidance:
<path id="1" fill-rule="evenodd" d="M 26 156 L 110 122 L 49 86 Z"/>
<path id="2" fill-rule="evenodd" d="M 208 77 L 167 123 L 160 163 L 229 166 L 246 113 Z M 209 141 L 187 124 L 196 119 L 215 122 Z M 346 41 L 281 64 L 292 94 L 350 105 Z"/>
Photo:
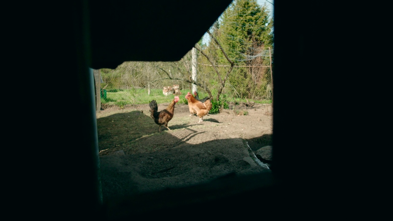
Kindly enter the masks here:
<path id="1" fill-rule="evenodd" d="M 181 104 L 186 104 L 187 99 L 185 99 L 185 95 L 189 90 L 181 90 L 182 94 L 178 95 L 179 96 L 179 102 Z M 202 99 L 208 94 L 199 92 L 199 98 Z M 213 95 L 214 96 L 214 95 Z M 174 95 L 168 95 L 165 96 L 162 93 L 162 89 L 151 89 L 150 90 L 150 95 L 147 94 L 147 88 L 143 89 L 128 89 L 128 90 L 117 90 L 117 92 L 109 92 L 107 91 L 107 99 L 101 98 L 101 103 L 107 103 L 109 105 L 118 105 L 119 107 L 124 107 L 124 105 L 127 104 L 146 104 L 149 103 L 152 100 L 156 100 L 157 103 L 169 103 L 173 100 Z M 239 99 L 239 98 L 230 98 L 228 96 L 225 96 L 225 94 L 222 96 L 222 101 L 225 103 L 229 102 L 235 102 L 235 103 L 240 103 L 240 102 L 247 102 L 246 99 Z M 248 101 L 254 101 L 254 100 L 248 100 Z M 214 102 L 214 101 L 213 101 Z M 272 100 L 261 100 L 261 101 L 254 101 L 255 103 L 272 103 Z"/>

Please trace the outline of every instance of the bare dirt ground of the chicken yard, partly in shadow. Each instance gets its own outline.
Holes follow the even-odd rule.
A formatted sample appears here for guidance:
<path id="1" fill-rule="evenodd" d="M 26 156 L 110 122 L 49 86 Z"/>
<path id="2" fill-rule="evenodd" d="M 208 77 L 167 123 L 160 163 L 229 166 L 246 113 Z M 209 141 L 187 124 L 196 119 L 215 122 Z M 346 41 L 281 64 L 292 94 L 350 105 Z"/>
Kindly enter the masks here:
<path id="1" fill-rule="evenodd" d="M 158 110 L 168 104 L 158 104 Z M 162 126 L 160 133 L 148 104 L 98 112 L 103 200 L 269 170 L 257 164 L 254 153 L 272 145 L 272 106 L 236 109 L 248 115 L 224 109 L 197 123 L 188 105 L 177 103 L 168 123 L 171 131 Z"/>

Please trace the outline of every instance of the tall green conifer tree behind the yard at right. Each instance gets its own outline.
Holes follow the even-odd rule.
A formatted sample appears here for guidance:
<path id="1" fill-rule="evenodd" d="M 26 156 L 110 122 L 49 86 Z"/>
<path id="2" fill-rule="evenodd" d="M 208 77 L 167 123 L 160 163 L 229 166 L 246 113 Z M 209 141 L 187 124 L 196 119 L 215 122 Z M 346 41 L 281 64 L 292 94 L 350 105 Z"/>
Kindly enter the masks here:
<path id="1" fill-rule="evenodd" d="M 213 35 L 235 65 L 269 64 L 268 57 L 261 59 L 273 43 L 273 20 L 266 6 L 259 6 L 256 0 L 235 0 L 218 23 L 213 28 Z M 213 41 L 209 44 L 209 51 L 211 56 L 217 57 L 218 63 L 225 63 L 226 59 Z M 261 97 L 266 90 L 266 78 L 269 77 L 264 72 L 268 71 L 270 68 L 234 68 L 228 80 L 241 98 Z"/>

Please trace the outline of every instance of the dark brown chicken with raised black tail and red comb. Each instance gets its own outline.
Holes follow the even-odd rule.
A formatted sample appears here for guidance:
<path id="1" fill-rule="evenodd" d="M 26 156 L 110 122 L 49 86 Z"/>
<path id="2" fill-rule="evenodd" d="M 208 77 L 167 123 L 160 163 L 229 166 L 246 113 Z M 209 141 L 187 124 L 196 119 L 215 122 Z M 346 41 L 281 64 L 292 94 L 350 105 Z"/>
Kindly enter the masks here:
<path id="1" fill-rule="evenodd" d="M 158 112 L 158 107 L 157 107 L 157 102 L 156 100 L 152 100 L 149 103 L 150 106 L 150 116 L 151 118 L 154 119 L 154 122 L 160 127 L 158 128 L 158 132 L 161 132 L 161 126 L 164 125 L 164 127 L 168 128 L 168 122 L 173 118 L 173 110 L 174 110 L 174 105 L 179 101 L 179 97 L 175 96 L 172 102 L 168 105 L 166 109 L 161 110 Z"/>

